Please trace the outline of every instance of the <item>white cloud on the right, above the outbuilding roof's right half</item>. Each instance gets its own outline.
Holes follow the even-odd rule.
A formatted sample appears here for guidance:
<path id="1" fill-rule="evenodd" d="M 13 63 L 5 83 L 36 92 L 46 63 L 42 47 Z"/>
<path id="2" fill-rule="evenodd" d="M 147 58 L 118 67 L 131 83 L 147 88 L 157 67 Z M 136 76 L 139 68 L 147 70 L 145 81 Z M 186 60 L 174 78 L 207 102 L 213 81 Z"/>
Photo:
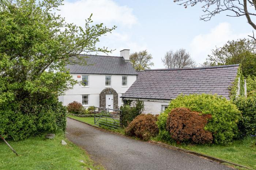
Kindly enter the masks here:
<path id="1" fill-rule="evenodd" d="M 222 47 L 228 40 L 237 40 L 247 38 L 250 33 L 234 33 L 229 23 L 219 23 L 206 34 L 200 34 L 193 38 L 191 47 L 191 56 L 197 63 L 203 63 L 211 50 L 216 47 Z"/>

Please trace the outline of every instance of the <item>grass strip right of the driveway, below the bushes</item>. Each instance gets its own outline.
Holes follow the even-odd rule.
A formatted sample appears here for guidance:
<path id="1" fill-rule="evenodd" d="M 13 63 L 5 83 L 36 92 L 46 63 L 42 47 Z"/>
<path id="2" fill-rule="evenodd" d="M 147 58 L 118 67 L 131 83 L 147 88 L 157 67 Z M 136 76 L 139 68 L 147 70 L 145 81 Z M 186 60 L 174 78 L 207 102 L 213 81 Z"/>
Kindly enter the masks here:
<path id="1" fill-rule="evenodd" d="M 154 138 L 153 140 L 159 141 L 158 138 Z M 177 145 L 177 143 L 166 143 L 256 169 L 256 137 L 247 137 L 244 140 L 234 141 L 232 145 L 228 146 L 216 144 Z"/>

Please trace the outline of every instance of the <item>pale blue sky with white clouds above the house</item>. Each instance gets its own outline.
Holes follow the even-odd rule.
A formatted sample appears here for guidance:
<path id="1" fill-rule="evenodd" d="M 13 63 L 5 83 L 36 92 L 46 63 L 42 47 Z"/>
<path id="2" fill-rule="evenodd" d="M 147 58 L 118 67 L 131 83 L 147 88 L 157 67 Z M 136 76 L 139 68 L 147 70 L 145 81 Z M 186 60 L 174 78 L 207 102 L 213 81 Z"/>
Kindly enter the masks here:
<path id="1" fill-rule="evenodd" d="M 166 51 L 185 48 L 196 63 L 203 63 L 211 50 L 222 47 L 228 40 L 248 38 L 251 26 L 245 16 L 228 17 L 221 13 L 210 21 L 200 20 L 200 4 L 184 8 L 173 0 L 64 0 L 60 15 L 68 23 L 84 26 L 93 13 L 94 23 L 107 27 L 116 25 L 111 34 L 100 38 L 97 47 L 114 50 L 110 56 L 120 56 L 147 50 L 154 66 L 164 68 L 161 58 Z"/>

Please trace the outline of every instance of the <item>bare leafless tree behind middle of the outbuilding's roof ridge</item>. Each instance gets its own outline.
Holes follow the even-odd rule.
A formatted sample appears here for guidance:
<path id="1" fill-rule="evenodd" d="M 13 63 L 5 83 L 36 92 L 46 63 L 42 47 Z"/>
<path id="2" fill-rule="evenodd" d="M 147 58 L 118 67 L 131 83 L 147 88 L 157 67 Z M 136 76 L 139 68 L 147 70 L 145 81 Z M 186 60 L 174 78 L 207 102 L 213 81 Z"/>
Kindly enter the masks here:
<path id="1" fill-rule="evenodd" d="M 172 50 L 167 51 L 165 56 L 162 58 L 162 62 L 166 68 L 196 67 L 195 61 L 183 48 L 176 52 L 173 52 Z"/>

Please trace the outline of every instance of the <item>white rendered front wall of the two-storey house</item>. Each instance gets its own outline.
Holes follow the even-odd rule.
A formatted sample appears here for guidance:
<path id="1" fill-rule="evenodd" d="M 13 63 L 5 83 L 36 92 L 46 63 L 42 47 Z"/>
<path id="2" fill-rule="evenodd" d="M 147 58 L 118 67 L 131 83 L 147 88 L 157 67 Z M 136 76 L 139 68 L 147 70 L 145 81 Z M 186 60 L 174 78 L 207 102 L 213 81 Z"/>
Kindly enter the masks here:
<path id="1" fill-rule="evenodd" d="M 81 76 L 78 78 L 78 76 Z M 88 74 L 84 74 L 88 75 Z M 82 81 L 82 74 L 72 74 L 73 79 Z M 63 102 L 64 106 L 67 106 L 68 103 L 77 101 L 82 103 L 82 95 L 89 95 L 89 103 L 86 106 L 96 106 L 99 107 L 99 94 L 105 88 L 113 88 L 118 93 L 118 107 L 121 106 L 122 99 L 120 98 L 121 94 L 125 93 L 128 88 L 135 82 L 137 79 L 136 75 L 110 75 L 111 77 L 111 86 L 105 86 L 105 76 L 106 75 L 89 75 L 89 86 L 84 87 L 82 85 L 76 84 L 73 89 L 65 92 L 64 96 L 59 96 L 59 101 Z M 109 75 L 107 75 L 109 76 Z M 127 86 L 122 86 L 122 76 L 127 76 Z"/>

